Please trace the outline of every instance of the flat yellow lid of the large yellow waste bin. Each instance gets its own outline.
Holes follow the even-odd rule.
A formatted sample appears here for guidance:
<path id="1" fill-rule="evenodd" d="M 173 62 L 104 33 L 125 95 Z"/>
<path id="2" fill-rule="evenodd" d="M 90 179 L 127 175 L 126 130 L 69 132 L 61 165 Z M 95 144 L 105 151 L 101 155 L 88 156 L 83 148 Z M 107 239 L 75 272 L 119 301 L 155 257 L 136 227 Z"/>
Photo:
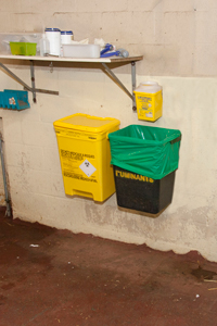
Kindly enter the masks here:
<path id="1" fill-rule="evenodd" d="M 118 126 L 120 122 L 114 117 L 98 117 L 89 114 L 76 113 L 53 123 L 54 127 L 76 129 L 88 133 L 105 133 Z"/>

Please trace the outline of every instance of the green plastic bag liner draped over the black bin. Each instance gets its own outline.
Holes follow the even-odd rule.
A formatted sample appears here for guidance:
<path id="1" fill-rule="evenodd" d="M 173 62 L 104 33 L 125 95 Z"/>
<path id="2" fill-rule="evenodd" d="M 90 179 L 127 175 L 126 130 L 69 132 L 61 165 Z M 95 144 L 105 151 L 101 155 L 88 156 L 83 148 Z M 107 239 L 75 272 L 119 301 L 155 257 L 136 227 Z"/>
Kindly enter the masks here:
<path id="1" fill-rule="evenodd" d="M 130 125 L 108 138 L 113 165 L 153 179 L 178 168 L 180 130 Z"/>

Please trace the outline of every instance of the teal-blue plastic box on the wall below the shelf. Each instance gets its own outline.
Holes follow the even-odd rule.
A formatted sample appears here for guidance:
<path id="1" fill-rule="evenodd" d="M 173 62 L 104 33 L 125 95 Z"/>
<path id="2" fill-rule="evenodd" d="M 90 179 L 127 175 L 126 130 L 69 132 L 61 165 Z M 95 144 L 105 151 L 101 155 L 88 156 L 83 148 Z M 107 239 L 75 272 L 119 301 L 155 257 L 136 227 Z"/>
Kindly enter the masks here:
<path id="1" fill-rule="evenodd" d="M 0 91 L 0 108 L 24 110 L 30 108 L 28 92 L 25 90 L 4 89 Z"/>

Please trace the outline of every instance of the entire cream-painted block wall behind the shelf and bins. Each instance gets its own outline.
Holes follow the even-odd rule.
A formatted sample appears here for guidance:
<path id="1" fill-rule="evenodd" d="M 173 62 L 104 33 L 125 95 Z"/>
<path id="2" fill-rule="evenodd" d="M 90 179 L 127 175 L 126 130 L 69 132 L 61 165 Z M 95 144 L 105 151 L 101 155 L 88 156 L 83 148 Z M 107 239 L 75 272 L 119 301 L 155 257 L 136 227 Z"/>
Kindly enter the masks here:
<path id="1" fill-rule="evenodd" d="M 164 115 L 155 126 L 182 131 L 180 165 L 173 204 L 157 218 L 122 211 L 115 196 L 97 204 L 64 193 L 53 121 L 73 114 L 139 122 L 130 99 L 95 67 L 36 66 L 36 86 L 60 96 L 37 95 L 23 112 L 0 110 L 14 217 L 75 233 L 183 253 L 199 250 L 217 261 L 217 64 L 214 0 L 165 1 L 5 1 L 0 32 L 72 28 L 76 39 L 102 37 L 143 54 L 137 84 L 157 80 L 164 89 Z M 85 11 L 84 11 L 85 8 Z M 26 83 L 26 66 L 9 65 Z M 115 68 L 130 90 L 130 66 Z M 1 73 L 1 89 L 18 88 Z"/>

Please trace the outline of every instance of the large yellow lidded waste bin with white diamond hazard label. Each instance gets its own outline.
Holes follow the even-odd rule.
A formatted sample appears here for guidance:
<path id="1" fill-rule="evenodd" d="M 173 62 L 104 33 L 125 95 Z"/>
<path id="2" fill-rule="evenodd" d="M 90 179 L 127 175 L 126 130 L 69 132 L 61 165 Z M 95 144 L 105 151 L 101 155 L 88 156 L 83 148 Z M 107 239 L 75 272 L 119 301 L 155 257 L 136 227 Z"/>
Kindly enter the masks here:
<path id="1" fill-rule="evenodd" d="M 119 121 L 88 114 L 73 114 L 53 123 L 65 193 L 104 201 L 115 192 L 107 135 Z"/>

